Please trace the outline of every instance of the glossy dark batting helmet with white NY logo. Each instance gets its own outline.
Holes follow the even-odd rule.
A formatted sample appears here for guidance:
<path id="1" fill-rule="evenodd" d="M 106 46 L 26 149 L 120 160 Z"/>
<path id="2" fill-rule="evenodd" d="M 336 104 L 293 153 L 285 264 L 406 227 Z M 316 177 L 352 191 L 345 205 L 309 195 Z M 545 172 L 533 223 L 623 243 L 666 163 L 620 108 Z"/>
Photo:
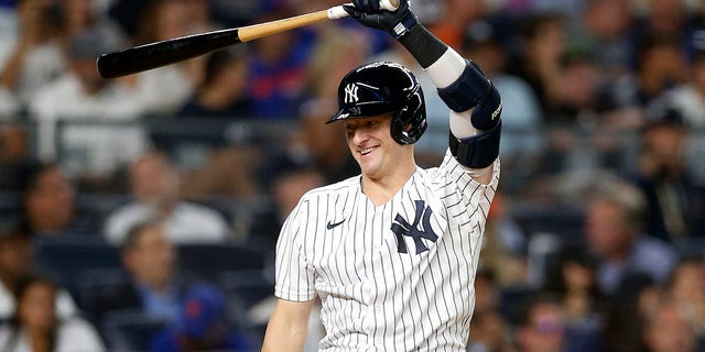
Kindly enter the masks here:
<path id="1" fill-rule="evenodd" d="M 426 130 L 426 106 L 416 77 L 403 66 L 377 62 L 349 72 L 338 87 L 340 110 L 326 123 L 393 113 L 391 136 L 399 144 L 419 141 Z"/>

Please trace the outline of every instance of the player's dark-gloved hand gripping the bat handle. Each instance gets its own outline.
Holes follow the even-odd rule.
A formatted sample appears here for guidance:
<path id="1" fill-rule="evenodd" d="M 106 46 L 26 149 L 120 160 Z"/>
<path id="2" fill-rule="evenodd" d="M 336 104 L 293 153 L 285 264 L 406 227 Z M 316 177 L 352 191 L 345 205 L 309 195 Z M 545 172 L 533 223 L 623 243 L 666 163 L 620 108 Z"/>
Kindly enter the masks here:
<path id="1" fill-rule="evenodd" d="M 346 4 L 343 9 L 364 25 L 387 31 L 397 40 L 419 22 L 409 8 L 409 0 L 399 0 L 395 11 L 380 9 L 379 0 L 352 0 L 352 6 Z"/>

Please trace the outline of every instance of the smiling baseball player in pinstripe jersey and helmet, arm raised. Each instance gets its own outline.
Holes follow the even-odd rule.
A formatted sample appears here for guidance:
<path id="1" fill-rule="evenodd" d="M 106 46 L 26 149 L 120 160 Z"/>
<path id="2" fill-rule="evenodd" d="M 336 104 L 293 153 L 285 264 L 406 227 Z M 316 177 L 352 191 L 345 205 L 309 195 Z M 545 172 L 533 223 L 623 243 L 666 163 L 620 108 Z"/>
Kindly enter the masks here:
<path id="1" fill-rule="evenodd" d="M 417 22 L 406 0 L 346 11 L 386 30 L 421 64 L 451 108 L 445 158 L 423 169 L 423 92 L 401 65 L 376 62 L 340 81 L 340 110 L 361 175 L 305 194 L 276 244 L 276 307 L 263 351 L 302 351 L 321 298 L 321 351 L 465 351 L 474 279 L 499 179 L 501 100 L 470 61 Z"/>

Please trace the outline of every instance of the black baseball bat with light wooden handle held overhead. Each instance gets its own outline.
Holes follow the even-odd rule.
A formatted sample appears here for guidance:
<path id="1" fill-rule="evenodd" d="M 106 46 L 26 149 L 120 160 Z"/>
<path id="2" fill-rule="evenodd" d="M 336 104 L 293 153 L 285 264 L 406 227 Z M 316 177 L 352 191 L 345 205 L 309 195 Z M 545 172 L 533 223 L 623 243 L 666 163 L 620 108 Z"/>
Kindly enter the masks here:
<path id="1" fill-rule="evenodd" d="M 381 9 L 394 11 L 398 7 L 399 0 L 380 0 Z M 96 61 L 96 66 L 102 78 L 127 76 L 194 58 L 238 43 L 346 15 L 348 13 L 343 6 L 337 6 L 271 22 L 175 37 L 101 54 Z"/>

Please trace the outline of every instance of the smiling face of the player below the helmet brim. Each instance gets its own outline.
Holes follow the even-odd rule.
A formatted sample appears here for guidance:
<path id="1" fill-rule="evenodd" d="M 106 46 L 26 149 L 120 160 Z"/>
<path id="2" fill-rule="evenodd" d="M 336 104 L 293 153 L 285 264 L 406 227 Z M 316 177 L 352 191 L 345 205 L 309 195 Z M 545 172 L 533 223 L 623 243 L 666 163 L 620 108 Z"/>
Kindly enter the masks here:
<path id="1" fill-rule="evenodd" d="M 390 129 L 390 116 L 345 121 L 348 147 L 364 176 L 372 179 L 390 176 L 410 160 L 408 153 L 411 153 L 411 147 L 397 143 Z"/>

